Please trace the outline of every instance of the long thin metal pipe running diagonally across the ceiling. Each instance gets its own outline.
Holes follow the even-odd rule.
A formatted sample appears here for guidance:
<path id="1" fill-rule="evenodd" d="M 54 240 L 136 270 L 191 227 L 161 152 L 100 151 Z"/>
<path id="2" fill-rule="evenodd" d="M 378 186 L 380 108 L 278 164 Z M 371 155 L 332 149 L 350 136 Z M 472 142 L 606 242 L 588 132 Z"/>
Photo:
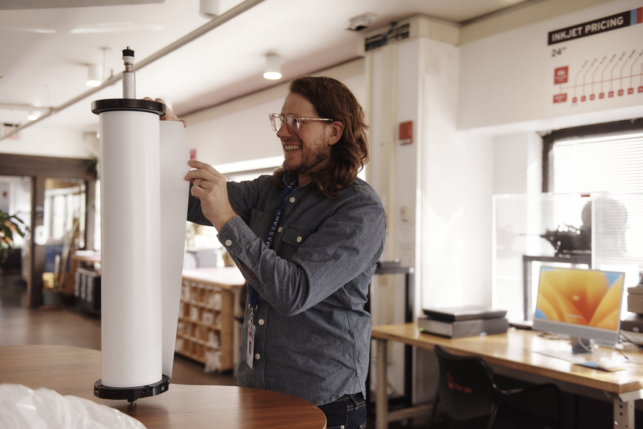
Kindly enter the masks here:
<path id="1" fill-rule="evenodd" d="M 142 69 L 143 67 L 145 67 L 145 66 L 147 66 L 149 64 L 152 64 L 152 62 L 158 60 L 159 58 L 165 57 L 165 55 L 167 55 L 168 53 L 176 51 L 177 49 L 181 48 L 181 46 L 184 46 L 184 45 L 192 42 L 194 39 L 198 39 L 199 37 L 201 37 L 205 33 L 208 33 L 211 30 L 214 30 L 215 28 L 217 28 L 221 24 L 227 23 L 228 21 L 230 21 L 230 19 L 233 19 L 237 15 L 240 15 L 240 14 L 246 12 L 246 10 L 249 10 L 249 9 L 253 8 L 254 6 L 257 6 L 259 3 L 262 3 L 262 1 L 264 1 L 264 0 L 246 0 L 246 1 L 242 2 L 242 3 L 239 3 L 239 5 L 231 8 L 230 10 L 228 10 L 228 12 L 225 12 L 224 14 L 221 14 L 221 15 L 213 18 L 211 21 L 208 21 L 208 23 L 203 24 L 202 26 L 200 26 L 199 28 L 194 30 L 194 32 L 186 34 L 185 36 L 181 37 L 181 39 L 177 40 L 176 42 L 168 44 L 168 46 L 165 46 L 165 48 L 163 48 L 161 50 L 158 50 L 155 53 L 153 53 L 152 55 L 150 55 L 149 57 L 147 57 L 146 59 L 144 59 L 144 60 L 142 60 L 140 62 L 137 62 L 136 64 L 134 64 L 134 71 L 137 71 L 137 70 Z M 16 132 L 19 132 L 19 131 L 27 128 L 27 127 L 30 127 L 34 123 L 41 122 L 41 120 L 43 120 L 45 118 L 48 118 L 52 114 L 58 113 L 63 109 L 66 109 L 70 105 L 76 104 L 80 100 L 83 100 L 84 98 L 87 98 L 88 96 L 100 91 L 101 89 L 104 89 L 105 87 L 112 86 L 113 84 L 115 84 L 116 82 L 121 80 L 122 78 L 123 78 L 122 73 L 118 73 L 117 75 L 114 75 L 114 76 L 108 78 L 107 80 L 105 80 L 102 84 L 100 84 L 100 86 L 96 86 L 96 87 L 94 87 L 92 89 L 89 89 L 89 90 L 85 91 L 84 93 L 78 95 L 77 97 L 72 98 L 68 102 L 63 103 L 63 104 L 61 104 L 59 106 L 48 108 L 48 112 L 43 114 L 41 117 L 39 117 L 39 118 L 37 118 L 37 119 L 35 119 L 33 121 L 29 121 L 27 123 L 24 123 L 23 125 L 20 125 L 19 127 L 15 127 L 15 129 L 13 129 L 11 132 L 8 132 L 5 136 L 0 136 L 0 141 L 5 140 L 5 138 L 10 138 Z M 6 105 L 6 103 L 5 103 L 5 105 Z"/>

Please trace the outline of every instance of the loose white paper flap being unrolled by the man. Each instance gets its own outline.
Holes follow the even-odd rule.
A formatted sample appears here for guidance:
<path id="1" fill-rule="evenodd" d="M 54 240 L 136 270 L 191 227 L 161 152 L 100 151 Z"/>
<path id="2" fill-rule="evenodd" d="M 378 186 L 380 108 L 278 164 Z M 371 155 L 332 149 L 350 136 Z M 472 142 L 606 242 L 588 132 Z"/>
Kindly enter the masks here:
<path id="1" fill-rule="evenodd" d="M 183 122 L 161 121 L 161 308 L 163 374 L 172 378 L 176 324 L 181 298 L 185 219 L 190 183 L 188 139 Z"/>

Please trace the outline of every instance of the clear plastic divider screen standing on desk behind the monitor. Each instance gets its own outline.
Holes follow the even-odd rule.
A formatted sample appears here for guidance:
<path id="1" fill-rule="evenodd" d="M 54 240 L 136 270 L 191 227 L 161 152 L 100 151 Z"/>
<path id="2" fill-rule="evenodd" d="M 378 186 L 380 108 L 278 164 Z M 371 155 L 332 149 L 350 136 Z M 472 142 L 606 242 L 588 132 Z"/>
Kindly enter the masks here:
<path id="1" fill-rule="evenodd" d="M 541 237 L 549 231 L 583 232 L 591 235 L 590 264 L 593 268 L 626 273 L 624 288 L 637 286 L 643 273 L 643 194 L 516 194 L 493 197 L 493 289 L 494 307 L 506 309 L 507 318 L 523 317 L 523 255 L 552 257 L 553 244 Z M 571 254 L 574 254 L 573 252 Z M 565 256 L 565 255 L 563 255 Z M 531 315 L 536 309 L 538 273 L 541 266 L 570 268 L 565 258 L 557 262 L 529 262 Z M 626 318 L 627 298 L 621 318 Z"/>

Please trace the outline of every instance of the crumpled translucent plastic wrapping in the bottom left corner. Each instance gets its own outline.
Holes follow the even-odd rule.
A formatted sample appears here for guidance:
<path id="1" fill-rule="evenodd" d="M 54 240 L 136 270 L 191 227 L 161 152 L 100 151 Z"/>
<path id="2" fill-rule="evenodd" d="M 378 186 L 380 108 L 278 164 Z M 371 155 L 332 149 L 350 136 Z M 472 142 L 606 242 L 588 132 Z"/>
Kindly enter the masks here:
<path id="1" fill-rule="evenodd" d="M 0 428 L 3 429 L 145 429 L 127 414 L 55 390 L 0 385 Z"/>

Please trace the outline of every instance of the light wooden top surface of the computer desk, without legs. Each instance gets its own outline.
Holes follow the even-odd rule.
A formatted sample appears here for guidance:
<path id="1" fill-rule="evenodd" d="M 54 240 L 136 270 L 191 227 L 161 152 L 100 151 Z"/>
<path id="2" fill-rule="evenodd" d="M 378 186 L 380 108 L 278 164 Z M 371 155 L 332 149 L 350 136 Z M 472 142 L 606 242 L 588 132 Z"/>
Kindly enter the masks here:
<path id="1" fill-rule="evenodd" d="M 605 372 L 574 365 L 571 362 L 544 356 L 536 350 L 562 349 L 568 340 L 547 340 L 538 336 L 539 331 L 510 328 L 506 334 L 472 336 L 467 338 L 442 338 L 420 333 L 417 324 L 374 326 L 372 338 L 398 341 L 405 344 L 433 349 L 439 344 L 455 354 L 481 356 L 492 365 L 509 367 L 553 379 L 568 381 L 581 386 L 599 388 L 608 392 L 624 393 L 643 389 L 643 353 L 625 352 L 631 362 L 609 347 L 599 347 L 602 356 L 608 356 L 624 371 Z"/>

